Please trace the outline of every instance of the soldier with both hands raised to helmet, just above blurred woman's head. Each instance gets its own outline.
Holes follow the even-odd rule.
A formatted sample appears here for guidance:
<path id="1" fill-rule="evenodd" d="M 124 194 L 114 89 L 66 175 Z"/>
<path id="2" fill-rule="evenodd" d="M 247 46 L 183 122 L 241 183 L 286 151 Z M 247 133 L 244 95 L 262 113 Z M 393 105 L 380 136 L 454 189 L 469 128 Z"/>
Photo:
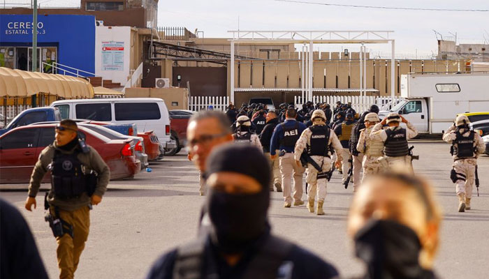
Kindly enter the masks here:
<path id="1" fill-rule="evenodd" d="M 401 128 L 400 123 L 406 123 L 407 128 Z M 384 125 L 388 128 L 381 130 Z M 409 156 L 409 146 L 407 140 L 418 135 L 418 130 L 413 124 L 409 123 L 404 117 L 391 112 L 381 123 L 377 123 L 370 133 L 370 140 L 381 140 L 384 142 L 385 156 L 381 160 L 382 171 L 387 171 L 394 165 L 407 165 L 412 170 L 411 156 Z"/>

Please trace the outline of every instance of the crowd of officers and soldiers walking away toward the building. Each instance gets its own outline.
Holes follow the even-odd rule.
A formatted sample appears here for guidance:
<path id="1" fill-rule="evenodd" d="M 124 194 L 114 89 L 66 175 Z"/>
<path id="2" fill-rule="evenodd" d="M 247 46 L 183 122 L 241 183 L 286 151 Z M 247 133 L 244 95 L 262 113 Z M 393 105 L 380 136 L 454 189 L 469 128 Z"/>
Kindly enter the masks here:
<path id="1" fill-rule="evenodd" d="M 305 172 L 307 209 L 323 215 L 326 185 L 335 169 L 342 174 L 345 188 L 353 182 L 353 191 L 366 176 L 388 171 L 398 163 L 412 169 L 407 141 L 416 137 L 418 131 L 395 112 L 379 119 L 377 105 L 361 115 L 351 103 L 341 102 L 337 102 L 333 112 L 328 104 L 311 102 L 302 105 L 299 111 L 285 104 L 279 106 L 278 113 L 267 112 L 263 105 L 250 105 L 249 109 L 247 115 L 233 113 L 232 106 L 226 112 L 231 121 L 234 115 L 237 117 L 233 121 L 233 139 L 263 149 L 270 158 L 273 172 L 270 190 L 283 191 L 286 208 L 305 204 L 302 200 Z M 407 128 L 400 123 L 406 123 Z"/>

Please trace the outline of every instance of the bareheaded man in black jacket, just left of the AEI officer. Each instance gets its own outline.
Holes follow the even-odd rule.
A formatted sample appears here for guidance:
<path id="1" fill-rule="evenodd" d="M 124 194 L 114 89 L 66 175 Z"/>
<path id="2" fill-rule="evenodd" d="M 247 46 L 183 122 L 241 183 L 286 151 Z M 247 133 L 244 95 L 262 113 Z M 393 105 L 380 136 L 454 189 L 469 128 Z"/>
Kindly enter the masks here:
<path id="1" fill-rule="evenodd" d="M 270 158 L 270 140 L 272 140 L 273 130 L 279 124 L 279 118 L 277 113 L 268 112 L 267 114 L 267 125 L 261 131 L 260 142 L 263 146 L 263 153 L 265 153 L 266 158 Z M 278 153 L 278 150 L 276 151 Z M 277 192 L 282 192 L 282 176 L 280 175 L 279 159 L 271 159 L 270 164 L 272 166 L 273 172 L 273 186 L 277 188 Z M 270 186 L 270 191 L 273 191 L 273 186 Z"/>

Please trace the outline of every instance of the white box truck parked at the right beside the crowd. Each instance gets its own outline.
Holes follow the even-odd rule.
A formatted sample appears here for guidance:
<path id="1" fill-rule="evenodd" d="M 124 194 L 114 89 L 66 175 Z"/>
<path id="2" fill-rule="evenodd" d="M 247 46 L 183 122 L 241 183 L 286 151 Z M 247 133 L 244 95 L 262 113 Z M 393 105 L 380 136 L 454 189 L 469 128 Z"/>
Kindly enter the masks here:
<path id="1" fill-rule="evenodd" d="M 404 100 L 379 117 L 398 112 L 420 133 L 444 133 L 457 114 L 489 112 L 489 73 L 402 75 L 401 97 Z"/>

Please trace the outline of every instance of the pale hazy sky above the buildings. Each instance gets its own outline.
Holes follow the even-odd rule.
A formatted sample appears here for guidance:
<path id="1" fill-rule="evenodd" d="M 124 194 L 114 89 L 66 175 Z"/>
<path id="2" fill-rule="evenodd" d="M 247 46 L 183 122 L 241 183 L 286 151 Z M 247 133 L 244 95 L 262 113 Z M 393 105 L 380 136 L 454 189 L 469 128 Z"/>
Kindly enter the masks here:
<path id="1" fill-rule="evenodd" d="M 31 0 L 0 0 L 27 3 Z M 489 0 L 304 0 L 316 3 L 489 10 Z M 38 0 L 41 7 L 79 6 L 80 0 Z M 7 5 L 8 6 L 8 5 Z M 229 30 L 388 30 L 394 31 L 399 57 L 427 58 L 437 53 L 437 35 L 457 33 L 458 43 L 489 41 L 489 12 L 348 8 L 275 0 L 159 0 L 159 27 L 198 29 L 205 38 L 226 38 Z M 433 31 L 435 30 L 435 31 Z M 440 36 L 438 35 L 438 38 Z M 314 50 L 358 51 L 359 45 L 317 45 Z M 389 56 L 390 45 L 367 45 L 371 55 Z"/>

